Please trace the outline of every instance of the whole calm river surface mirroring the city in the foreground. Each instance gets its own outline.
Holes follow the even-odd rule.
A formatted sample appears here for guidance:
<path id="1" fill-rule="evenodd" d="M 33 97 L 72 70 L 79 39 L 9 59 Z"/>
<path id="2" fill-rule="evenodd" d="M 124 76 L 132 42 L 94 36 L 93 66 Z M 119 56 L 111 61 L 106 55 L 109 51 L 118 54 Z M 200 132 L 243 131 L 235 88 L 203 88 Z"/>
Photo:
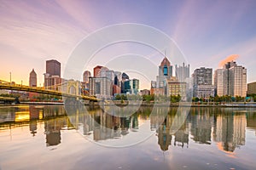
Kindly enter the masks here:
<path id="1" fill-rule="evenodd" d="M 191 108 L 180 126 L 166 110 L 67 116 L 57 105 L 0 105 L 0 169 L 255 169 L 256 110 Z"/>

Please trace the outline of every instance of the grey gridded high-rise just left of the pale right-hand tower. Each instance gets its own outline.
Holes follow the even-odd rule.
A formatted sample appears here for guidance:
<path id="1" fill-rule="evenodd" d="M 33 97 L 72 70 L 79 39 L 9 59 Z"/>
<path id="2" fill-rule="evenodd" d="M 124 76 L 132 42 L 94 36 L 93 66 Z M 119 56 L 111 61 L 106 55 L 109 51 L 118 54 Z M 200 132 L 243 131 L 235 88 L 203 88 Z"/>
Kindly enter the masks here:
<path id="1" fill-rule="evenodd" d="M 209 98 L 214 96 L 214 86 L 212 85 L 212 68 L 201 67 L 195 69 L 193 75 L 194 97 Z"/>

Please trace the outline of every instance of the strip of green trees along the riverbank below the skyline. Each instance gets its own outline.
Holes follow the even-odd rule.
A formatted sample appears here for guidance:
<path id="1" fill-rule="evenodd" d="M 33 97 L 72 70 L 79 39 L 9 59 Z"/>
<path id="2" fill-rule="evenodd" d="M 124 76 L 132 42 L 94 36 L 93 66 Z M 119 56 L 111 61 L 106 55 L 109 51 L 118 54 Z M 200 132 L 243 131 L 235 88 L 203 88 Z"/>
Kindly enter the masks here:
<path id="1" fill-rule="evenodd" d="M 40 94 L 35 96 L 33 99 L 20 99 L 19 95 L 15 94 L 0 94 L 3 97 L 11 97 L 19 99 L 19 103 L 15 105 L 64 105 L 63 100 L 60 96 L 52 96 Z M 191 99 L 191 98 L 190 98 Z M 192 98 L 192 102 L 182 101 L 181 96 L 165 96 L 148 94 L 148 95 L 134 95 L 134 94 L 117 94 L 113 99 L 104 100 L 102 102 L 92 102 L 87 100 L 80 100 L 84 105 L 141 105 L 141 106 L 170 106 L 170 107 L 256 107 L 256 94 L 251 95 L 247 98 L 236 96 L 231 97 L 215 96 L 208 99 Z M 2 105 L 2 104 L 0 104 Z M 3 104 L 4 105 L 4 104 Z M 13 104 L 14 105 L 14 104 Z"/>

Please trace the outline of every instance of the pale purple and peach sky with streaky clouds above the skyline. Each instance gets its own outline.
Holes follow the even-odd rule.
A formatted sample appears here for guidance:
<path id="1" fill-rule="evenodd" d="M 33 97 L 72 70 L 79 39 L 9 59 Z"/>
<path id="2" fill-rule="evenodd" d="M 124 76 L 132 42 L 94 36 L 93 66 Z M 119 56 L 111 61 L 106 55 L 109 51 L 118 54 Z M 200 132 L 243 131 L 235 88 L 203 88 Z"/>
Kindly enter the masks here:
<path id="1" fill-rule="evenodd" d="M 45 60 L 60 61 L 63 74 L 84 37 L 106 26 L 136 23 L 171 37 L 191 74 L 201 66 L 214 71 L 222 60 L 235 55 L 237 64 L 247 68 L 247 82 L 256 82 L 255 8 L 254 0 L 0 0 L 0 80 L 9 81 L 11 72 L 12 81 L 28 84 L 29 73 L 35 69 L 38 85 L 43 86 Z M 114 50 L 119 51 L 115 55 L 150 55 L 154 65 L 163 59 L 143 45 L 122 43 L 110 49 L 98 53 L 84 69 L 105 65 L 103 60 L 109 60 L 109 51 Z M 172 54 L 167 51 L 166 55 Z M 152 72 L 156 76 L 157 69 Z"/>

